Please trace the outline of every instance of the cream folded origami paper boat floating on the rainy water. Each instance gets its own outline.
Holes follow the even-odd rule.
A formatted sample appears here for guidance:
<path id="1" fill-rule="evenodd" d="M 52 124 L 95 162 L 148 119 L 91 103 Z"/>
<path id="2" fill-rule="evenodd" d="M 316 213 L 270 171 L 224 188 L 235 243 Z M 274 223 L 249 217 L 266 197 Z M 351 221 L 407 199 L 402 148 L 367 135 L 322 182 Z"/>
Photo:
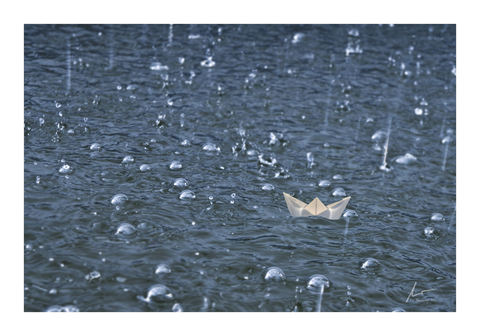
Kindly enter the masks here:
<path id="1" fill-rule="evenodd" d="M 310 204 L 306 204 L 286 192 L 283 195 L 292 217 L 322 216 L 328 219 L 340 219 L 343 210 L 350 200 L 350 196 L 348 196 L 341 201 L 325 206 L 317 197 Z"/>

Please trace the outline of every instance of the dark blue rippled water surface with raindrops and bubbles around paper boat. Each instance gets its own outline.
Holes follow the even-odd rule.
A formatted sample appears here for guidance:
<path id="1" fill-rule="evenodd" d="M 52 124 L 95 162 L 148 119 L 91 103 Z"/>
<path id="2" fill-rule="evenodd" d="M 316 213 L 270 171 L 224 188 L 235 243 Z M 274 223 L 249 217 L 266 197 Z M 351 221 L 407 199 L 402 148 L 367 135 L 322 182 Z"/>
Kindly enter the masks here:
<path id="1" fill-rule="evenodd" d="M 24 310 L 456 311 L 455 138 L 455 25 L 25 25 Z"/>

